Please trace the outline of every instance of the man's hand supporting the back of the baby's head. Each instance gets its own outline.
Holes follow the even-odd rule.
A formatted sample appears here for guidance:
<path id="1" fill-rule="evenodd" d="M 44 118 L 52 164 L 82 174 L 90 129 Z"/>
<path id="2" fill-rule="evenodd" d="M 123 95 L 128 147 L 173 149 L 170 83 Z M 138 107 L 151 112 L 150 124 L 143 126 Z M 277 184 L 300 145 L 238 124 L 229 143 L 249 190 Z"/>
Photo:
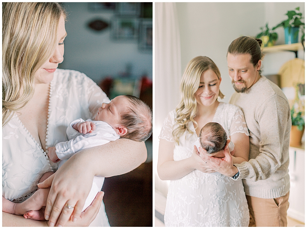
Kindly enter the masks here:
<path id="1" fill-rule="evenodd" d="M 227 144 L 224 148 L 224 158 L 210 157 L 201 147 L 199 148 L 199 154 L 210 168 L 227 177 L 233 177 L 239 170 L 237 167 L 233 166 L 232 158 L 228 149 L 229 142 L 230 140 L 227 140 Z"/>

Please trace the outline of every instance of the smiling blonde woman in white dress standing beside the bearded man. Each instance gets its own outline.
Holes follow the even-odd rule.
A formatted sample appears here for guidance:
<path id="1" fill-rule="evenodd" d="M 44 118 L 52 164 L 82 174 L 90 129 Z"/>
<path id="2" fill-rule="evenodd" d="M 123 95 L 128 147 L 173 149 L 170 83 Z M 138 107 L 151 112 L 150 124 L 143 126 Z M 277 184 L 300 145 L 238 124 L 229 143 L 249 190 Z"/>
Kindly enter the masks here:
<path id="1" fill-rule="evenodd" d="M 210 58 L 193 58 L 181 80 L 181 102 L 165 119 L 157 165 L 159 177 L 171 180 L 165 226 L 248 226 L 242 182 L 210 169 L 193 144 L 206 123 L 218 122 L 235 145 L 233 161 L 248 160 L 249 133 L 243 113 L 217 100 L 223 98 L 220 82 L 220 71 Z"/>

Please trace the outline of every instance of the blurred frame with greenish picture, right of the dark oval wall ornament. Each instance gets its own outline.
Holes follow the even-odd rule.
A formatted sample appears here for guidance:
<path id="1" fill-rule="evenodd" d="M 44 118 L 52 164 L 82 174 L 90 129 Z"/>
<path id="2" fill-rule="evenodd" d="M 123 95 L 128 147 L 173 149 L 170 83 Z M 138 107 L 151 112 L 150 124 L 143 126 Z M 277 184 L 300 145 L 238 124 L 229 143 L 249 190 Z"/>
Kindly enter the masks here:
<path id="1" fill-rule="evenodd" d="M 138 18 L 114 17 L 112 19 L 111 37 L 115 40 L 138 39 L 138 28 Z"/>

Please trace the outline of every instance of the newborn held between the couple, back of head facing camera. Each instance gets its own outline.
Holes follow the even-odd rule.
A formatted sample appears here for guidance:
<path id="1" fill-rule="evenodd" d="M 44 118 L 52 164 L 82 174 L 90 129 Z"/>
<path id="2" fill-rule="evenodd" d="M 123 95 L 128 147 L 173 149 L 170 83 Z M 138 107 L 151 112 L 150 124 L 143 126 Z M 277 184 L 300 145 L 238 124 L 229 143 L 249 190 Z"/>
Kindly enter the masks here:
<path id="1" fill-rule="evenodd" d="M 223 158 L 225 157 L 224 148 L 227 142 L 227 133 L 217 122 L 208 122 L 200 130 L 199 138 L 193 143 L 196 147 L 202 147 L 209 156 Z M 235 144 L 232 141 L 228 144 L 231 155 L 235 153 Z"/>

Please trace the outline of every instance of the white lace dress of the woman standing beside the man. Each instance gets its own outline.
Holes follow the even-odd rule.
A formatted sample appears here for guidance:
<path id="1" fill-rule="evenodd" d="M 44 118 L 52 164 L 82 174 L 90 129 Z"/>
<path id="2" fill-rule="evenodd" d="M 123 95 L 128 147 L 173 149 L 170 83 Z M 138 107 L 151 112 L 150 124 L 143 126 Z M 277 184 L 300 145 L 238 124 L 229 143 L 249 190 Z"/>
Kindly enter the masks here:
<path id="1" fill-rule="evenodd" d="M 168 114 L 159 138 L 174 141 L 175 111 Z M 220 123 L 227 136 L 234 133 L 249 135 L 243 112 L 239 107 L 220 103 L 212 122 Z M 193 135 L 186 131 L 174 148 L 174 160 L 192 156 L 193 142 L 197 135 L 193 123 L 189 123 Z M 193 170 L 184 177 L 172 180 L 166 200 L 164 215 L 168 227 L 247 227 L 249 210 L 242 180 L 234 181 L 218 172 L 203 173 Z"/>

